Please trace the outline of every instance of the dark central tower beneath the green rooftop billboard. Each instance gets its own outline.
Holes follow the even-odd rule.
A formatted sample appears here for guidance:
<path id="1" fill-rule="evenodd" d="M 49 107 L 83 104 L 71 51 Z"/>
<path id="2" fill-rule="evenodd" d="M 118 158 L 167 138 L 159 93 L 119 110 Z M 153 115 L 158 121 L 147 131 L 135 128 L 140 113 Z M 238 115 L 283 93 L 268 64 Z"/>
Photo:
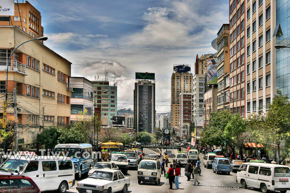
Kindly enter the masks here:
<path id="1" fill-rule="evenodd" d="M 134 89 L 134 129 L 152 133 L 156 124 L 155 81 L 138 80 Z"/>

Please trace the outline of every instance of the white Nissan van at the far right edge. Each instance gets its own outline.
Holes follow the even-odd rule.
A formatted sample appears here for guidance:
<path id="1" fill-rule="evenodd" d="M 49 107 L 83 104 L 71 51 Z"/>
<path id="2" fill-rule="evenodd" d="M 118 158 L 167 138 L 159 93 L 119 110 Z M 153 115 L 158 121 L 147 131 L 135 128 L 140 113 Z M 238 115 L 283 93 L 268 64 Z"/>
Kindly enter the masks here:
<path id="1" fill-rule="evenodd" d="M 286 192 L 290 190 L 290 167 L 271 163 L 243 163 L 238 172 L 238 183 L 242 188 L 247 186 L 261 188 L 263 193 L 268 190 Z"/>

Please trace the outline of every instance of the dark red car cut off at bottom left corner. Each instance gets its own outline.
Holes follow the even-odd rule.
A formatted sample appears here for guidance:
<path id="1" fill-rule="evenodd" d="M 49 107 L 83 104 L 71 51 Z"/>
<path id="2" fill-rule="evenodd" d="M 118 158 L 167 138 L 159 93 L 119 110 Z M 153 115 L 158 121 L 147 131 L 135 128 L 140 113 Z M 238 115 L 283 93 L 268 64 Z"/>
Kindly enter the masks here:
<path id="1" fill-rule="evenodd" d="M 30 177 L 11 173 L 0 174 L 0 192 L 11 192 L 11 190 L 15 192 L 40 192 Z"/>

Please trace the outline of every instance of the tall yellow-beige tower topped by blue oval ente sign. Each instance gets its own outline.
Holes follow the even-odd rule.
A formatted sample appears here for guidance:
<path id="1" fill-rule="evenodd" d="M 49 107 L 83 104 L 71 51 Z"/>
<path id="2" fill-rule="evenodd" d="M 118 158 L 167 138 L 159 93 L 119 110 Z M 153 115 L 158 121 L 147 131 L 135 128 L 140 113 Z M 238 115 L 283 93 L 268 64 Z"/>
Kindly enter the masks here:
<path id="1" fill-rule="evenodd" d="M 184 69 L 188 65 L 174 65 L 176 67 Z M 188 71 L 183 72 L 176 69 L 171 75 L 171 128 L 179 128 L 179 94 L 180 93 L 192 93 L 192 73 L 190 73 L 190 67 Z"/>

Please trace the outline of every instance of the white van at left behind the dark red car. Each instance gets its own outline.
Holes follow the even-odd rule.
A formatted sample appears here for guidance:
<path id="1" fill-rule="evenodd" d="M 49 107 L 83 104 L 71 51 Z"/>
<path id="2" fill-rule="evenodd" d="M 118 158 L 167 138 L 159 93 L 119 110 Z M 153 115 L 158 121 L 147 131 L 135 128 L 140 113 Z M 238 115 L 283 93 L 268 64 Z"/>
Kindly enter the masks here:
<path id="1" fill-rule="evenodd" d="M 64 193 L 75 185 L 75 171 L 70 157 L 15 155 L 0 166 L 0 172 L 28 176 L 37 184 L 40 191 L 58 190 Z"/>

